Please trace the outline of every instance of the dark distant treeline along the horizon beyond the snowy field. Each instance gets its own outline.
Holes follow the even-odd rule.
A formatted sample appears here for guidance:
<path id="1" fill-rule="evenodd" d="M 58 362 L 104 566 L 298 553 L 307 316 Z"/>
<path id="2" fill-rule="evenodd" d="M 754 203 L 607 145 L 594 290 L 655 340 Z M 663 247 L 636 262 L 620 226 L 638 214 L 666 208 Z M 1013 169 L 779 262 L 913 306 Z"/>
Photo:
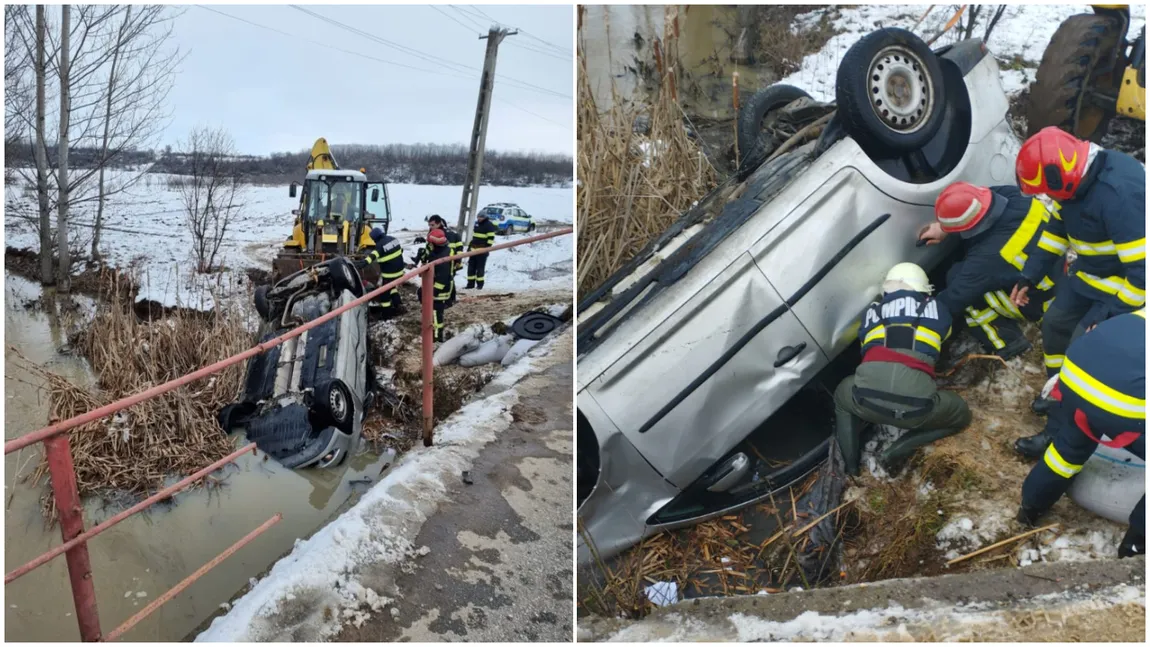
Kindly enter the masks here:
<path id="1" fill-rule="evenodd" d="M 299 179 L 308 161 L 308 151 L 274 153 L 266 157 L 236 156 L 231 164 L 241 177 L 252 182 Z M 462 145 L 389 144 L 386 146 L 332 146 L 340 168 L 367 169 L 370 179 L 402 184 L 463 184 L 468 149 Z M 8 141 L 5 148 L 8 167 L 34 165 L 32 148 L 26 143 Z M 48 147 L 54 164 L 56 148 Z M 99 160 L 95 149 L 72 148 L 69 164 L 84 168 Z M 115 167 L 152 165 L 153 172 L 184 175 L 190 171 L 185 155 L 167 147 L 163 151 L 132 151 L 120 155 Z M 489 151 L 483 157 L 483 184 L 500 186 L 561 185 L 573 179 L 572 159 L 545 153 L 500 153 Z"/>

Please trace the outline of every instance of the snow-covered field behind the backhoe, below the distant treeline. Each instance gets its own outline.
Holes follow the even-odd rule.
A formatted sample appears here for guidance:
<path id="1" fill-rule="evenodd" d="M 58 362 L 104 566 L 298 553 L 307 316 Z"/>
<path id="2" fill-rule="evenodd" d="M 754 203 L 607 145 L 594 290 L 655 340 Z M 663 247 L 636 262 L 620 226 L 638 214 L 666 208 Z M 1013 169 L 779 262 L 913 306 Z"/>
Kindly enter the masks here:
<path id="1" fill-rule="evenodd" d="M 110 265 L 135 268 L 144 287 L 140 299 L 166 306 L 210 308 L 210 293 L 228 293 L 236 287 L 235 274 L 246 268 L 270 270 L 283 240 L 291 233 L 291 210 L 299 206 L 286 186 L 250 186 L 243 195 L 244 208 L 233 221 L 217 262 L 230 272 L 197 276 L 192 268 L 192 239 L 181 207 L 179 193 L 168 187 L 170 176 L 148 174 L 129 192 L 115 195 L 105 208 L 105 233 L 100 251 Z M 36 193 L 20 182 L 6 186 L 5 234 L 9 247 L 39 251 L 36 230 L 16 210 L 34 208 Z M 570 188 L 483 186 L 480 207 L 491 202 L 516 202 L 536 222 L 573 219 Z M 427 233 L 424 218 L 439 214 L 454 223 L 462 188 L 412 184 L 389 185 L 391 233 L 405 242 L 414 257 L 419 245 L 411 244 Z M 16 207 L 16 209 L 14 209 Z M 78 239 L 90 239 L 95 218 L 94 203 L 80 205 L 71 222 Z M 519 237 L 500 237 L 506 241 Z M 494 252 L 488 260 L 489 290 L 555 288 L 572 285 L 573 237 L 565 236 L 534 245 Z M 459 280 L 466 280 L 460 272 Z"/>

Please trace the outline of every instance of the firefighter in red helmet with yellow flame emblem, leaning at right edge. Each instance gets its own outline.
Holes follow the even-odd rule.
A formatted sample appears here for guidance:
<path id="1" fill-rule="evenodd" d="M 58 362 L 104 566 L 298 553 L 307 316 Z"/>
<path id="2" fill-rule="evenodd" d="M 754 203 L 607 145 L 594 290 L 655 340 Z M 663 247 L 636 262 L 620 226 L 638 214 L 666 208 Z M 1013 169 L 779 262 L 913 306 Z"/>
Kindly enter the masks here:
<path id="1" fill-rule="evenodd" d="M 1042 321 L 1046 376 L 1058 375 L 1076 329 L 1145 305 L 1145 169 L 1118 151 L 1082 141 L 1055 126 L 1022 144 L 1015 163 L 1022 193 L 1044 193 L 1060 205 L 1042 242 L 1011 292 L 1025 306 L 1067 248 L 1076 259 Z M 1043 414 L 1051 400 L 1040 394 Z"/>

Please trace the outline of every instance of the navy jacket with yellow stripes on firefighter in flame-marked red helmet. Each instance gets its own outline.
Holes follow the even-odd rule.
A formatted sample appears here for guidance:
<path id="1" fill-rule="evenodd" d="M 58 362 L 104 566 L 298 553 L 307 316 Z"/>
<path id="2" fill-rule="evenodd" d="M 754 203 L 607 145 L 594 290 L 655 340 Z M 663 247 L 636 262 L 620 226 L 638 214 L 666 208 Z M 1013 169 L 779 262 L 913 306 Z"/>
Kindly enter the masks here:
<path id="1" fill-rule="evenodd" d="M 1102 151 L 1074 200 L 1063 202 L 1022 270 L 1037 283 L 1067 251 L 1074 288 L 1109 306 L 1107 315 L 1145 305 L 1145 168 L 1117 151 Z M 1105 316 L 1105 315 L 1104 315 Z"/>

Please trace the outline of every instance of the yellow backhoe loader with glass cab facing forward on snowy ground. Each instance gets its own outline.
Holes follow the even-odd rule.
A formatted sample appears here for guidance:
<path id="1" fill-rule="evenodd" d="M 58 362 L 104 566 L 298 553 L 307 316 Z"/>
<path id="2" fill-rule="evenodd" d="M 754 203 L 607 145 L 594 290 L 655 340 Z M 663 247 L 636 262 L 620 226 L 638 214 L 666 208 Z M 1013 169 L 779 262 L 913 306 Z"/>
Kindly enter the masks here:
<path id="1" fill-rule="evenodd" d="M 299 191 L 301 188 L 301 191 Z M 363 169 L 344 170 L 322 137 L 312 147 L 304 183 L 292 183 L 289 194 L 299 194 L 292 210 L 296 223 L 273 265 L 274 276 L 286 276 L 332 256 L 362 257 L 375 247 L 371 229 L 384 231 L 391 223 L 388 184 L 369 182 Z M 363 278 L 375 280 L 379 269 L 365 268 Z"/>

